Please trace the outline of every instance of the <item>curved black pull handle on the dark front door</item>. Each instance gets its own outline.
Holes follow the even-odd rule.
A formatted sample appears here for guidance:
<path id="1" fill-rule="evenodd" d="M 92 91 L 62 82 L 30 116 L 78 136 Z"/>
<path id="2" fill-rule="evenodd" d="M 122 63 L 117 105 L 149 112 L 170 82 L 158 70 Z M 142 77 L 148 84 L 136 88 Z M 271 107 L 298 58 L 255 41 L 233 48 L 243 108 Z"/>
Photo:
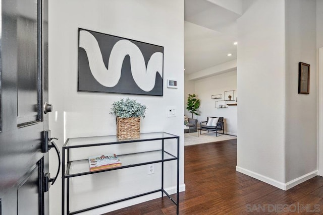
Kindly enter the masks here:
<path id="1" fill-rule="evenodd" d="M 58 167 L 58 171 L 56 173 L 56 176 L 54 178 L 50 178 L 50 173 L 45 173 L 44 174 L 44 184 L 45 184 L 45 192 L 48 191 L 50 185 L 53 185 L 56 181 L 56 179 L 59 176 L 60 170 L 61 170 L 61 153 L 59 148 L 57 147 L 57 145 L 55 144 L 55 142 L 53 141 L 54 139 L 58 139 L 58 138 L 50 138 L 50 130 L 45 130 L 43 132 L 43 144 L 42 144 L 42 152 L 43 153 L 47 153 L 51 148 L 54 148 L 56 153 L 57 153 L 57 157 L 59 159 L 59 167 Z M 51 184 L 50 184 L 51 182 Z"/>

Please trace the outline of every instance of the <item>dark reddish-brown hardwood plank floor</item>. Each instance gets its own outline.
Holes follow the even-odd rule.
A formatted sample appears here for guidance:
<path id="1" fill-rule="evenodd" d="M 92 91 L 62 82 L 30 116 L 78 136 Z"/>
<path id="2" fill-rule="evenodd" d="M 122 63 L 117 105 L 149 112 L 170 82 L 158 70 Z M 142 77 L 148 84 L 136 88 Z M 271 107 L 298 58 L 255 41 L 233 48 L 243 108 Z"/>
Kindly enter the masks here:
<path id="1" fill-rule="evenodd" d="M 186 191 L 180 214 L 323 214 L 323 178 L 288 191 L 236 172 L 237 140 L 185 147 Z M 166 197 L 110 214 L 176 214 Z"/>

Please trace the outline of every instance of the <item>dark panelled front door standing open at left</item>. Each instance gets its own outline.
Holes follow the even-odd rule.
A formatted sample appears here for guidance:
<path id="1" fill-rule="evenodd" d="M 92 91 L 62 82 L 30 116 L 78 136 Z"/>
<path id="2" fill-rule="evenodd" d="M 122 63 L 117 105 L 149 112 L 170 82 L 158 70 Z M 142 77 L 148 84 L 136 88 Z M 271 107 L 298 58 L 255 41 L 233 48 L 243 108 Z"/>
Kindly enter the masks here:
<path id="1" fill-rule="evenodd" d="M 47 0 L 1 1 L 0 215 L 48 214 Z"/>

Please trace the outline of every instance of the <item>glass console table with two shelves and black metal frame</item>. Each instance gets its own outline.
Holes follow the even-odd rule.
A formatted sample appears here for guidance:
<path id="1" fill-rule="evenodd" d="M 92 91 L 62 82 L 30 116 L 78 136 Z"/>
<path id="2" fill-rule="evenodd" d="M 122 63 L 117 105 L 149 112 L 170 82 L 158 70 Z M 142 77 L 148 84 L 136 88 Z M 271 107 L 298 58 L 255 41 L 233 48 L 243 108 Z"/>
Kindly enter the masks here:
<path id="1" fill-rule="evenodd" d="M 164 150 L 164 140 L 165 139 L 176 139 L 177 140 L 177 155 L 173 155 Z M 160 142 L 156 141 L 160 140 Z M 84 148 L 84 147 L 96 147 L 96 146 L 103 146 L 103 145 L 113 145 L 113 144 L 126 144 L 129 142 L 134 142 L 135 144 L 140 144 L 143 141 L 153 141 L 152 144 L 159 144 L 160 150 L 154 151 L 145 151 L 140 153 L 131 153 L 131 154 L 124 154 L 118 155 L 118 158 L 122 162 L 122 166 L 114 167 L 112 169 L 105 169 L 99 170 L 95 172 L 90 172 L 88 158 L 83 160 L 70 160 L 71 154 L 73 153 L 73 149 L 77 148 Z M 62 150 L 62 214 L 65 213 L 65 206 L 67 208 L 67 214 L 77 214 L 84 211 L 92 210 L 98 207 L 103 207 L 106 205 L 114 204 L 117 202 L 129 200 L 132 198 L 137 198 L 143 195 L 148 195 L 155 192 L 161 192 L 161 197 L 167 195 L 171 201 L 176 205 L 176 212 L 179 214 L 179 144 L 180 144 L 180 137 L 174 134 L 166 133 L 166 132 L 154 132 L 154 133 L 141 133 L 139 138 L 134 139 L 122 139 L 119 140 L 116 135 L 110 136 L 92 136 L 92 137 L 77 137 L 77 138 L 68 138 L 63 145 Z M 67 155 L 67 156 L 65 156 Z M 67 157 L 67 160 L 66 158 Z M 177 188 L 176 188 L 176 200 L 173 199 L 170 194 L 168 194 L 164 189 L 164 162 L 168 161 L 177 161 Z M 129 196 L 127 198 L 119 199 L 113 202 L 107 202 L 104 204 L 80 209 L 77 211 L 70 211 L 70 178 L 72 177 L 79 177 L 83 175 L 89 174 L 96 174 L 100 172 L 107 172 L 107 171 L 117 171 L 119 169 L 125 168 L 132 168 L 136 166 L 143 166 L 148 164 L 154 163 L 161 163 L 161 184 L 160 189 L 151 190 L 150 192 L 140 193 L 138 195 Z M 82 165 L 84 168 L 82 170 L 74 171 L 73 165 Z M 66 193 L 67 192 L 67 193 Z M 65 193 L 66 193 L 66 202 L 65 202 Z"/>

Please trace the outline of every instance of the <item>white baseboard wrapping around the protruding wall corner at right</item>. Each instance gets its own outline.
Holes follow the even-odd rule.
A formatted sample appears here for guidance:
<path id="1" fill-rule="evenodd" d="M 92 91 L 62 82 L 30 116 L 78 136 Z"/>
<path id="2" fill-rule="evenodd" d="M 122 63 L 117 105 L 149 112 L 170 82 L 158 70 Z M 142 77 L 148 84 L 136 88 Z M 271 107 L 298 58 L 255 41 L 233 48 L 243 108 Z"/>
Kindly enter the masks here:
<path id="1" fill-rule="evenodd" d="M 312 172 L 307 173 L 305 175 L 302 175 L 301 177 L 298 177 L 298 178 L 296 178 L 294 180 L 291 180 L 291 181 L 289 181 L 287 183 L 282 183 L 280 181 L 277 181 L 277 180 L 272 179 L 270 177 L 255 173 L 255 172 L 247 170 L 247 169 L 244 169 L 242 167 L 236 166 L 236 171 L 241 172 L 241 173 L 243 173 L 245 175 L 251 176 L 252 178 L 258 179 L 260 181 L 263 181 L 263 182 L 265 182 L 267 184 L 270 184 L 270 185 L 273 185 L 275 187 L 278 187 L 278 188 L 280 188 L 282 190 L 288 190 L 288 189 L 290 189 L 290 188 L 292 188 L 292 187 L 294 187 L 294 186 L 296 186 L 296 185 L 298 185 L 298 184 L 300 184 L 300 183 L 302 183 L 302 182 L 304 182 L 304 181 L 306 181 L 306 180 L 308 180 L 310 178 L 313 178 L 314 176 L 317 175 L 317 170 L 315 170 L 315 171 L 312 171 Z"/>

